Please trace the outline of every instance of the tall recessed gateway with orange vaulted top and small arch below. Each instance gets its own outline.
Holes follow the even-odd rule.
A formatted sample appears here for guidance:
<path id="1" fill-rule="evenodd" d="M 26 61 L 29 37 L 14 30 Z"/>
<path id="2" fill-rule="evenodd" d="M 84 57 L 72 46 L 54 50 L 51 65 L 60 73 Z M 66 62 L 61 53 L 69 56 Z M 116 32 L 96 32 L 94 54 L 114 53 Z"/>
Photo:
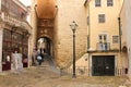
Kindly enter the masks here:
<path id="1" fill-rule="evenodd" d="M 55 0 L 34 0 L 34 3 L 33 8 L 36 14 L 34 21 L 36 40 L 34 46 L 37 47 L 37 51 L 53 58 Z"/>

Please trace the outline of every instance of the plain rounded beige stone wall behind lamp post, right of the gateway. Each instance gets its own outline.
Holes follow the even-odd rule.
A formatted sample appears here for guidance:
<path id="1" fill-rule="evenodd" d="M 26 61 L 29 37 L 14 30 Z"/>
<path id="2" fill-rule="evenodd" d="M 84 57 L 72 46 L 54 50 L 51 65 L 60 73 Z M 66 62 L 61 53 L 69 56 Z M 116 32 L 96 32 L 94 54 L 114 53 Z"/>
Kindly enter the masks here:
<path id="1" fill-rule="evenodd" d="M 59 0 L 58 12 L 55 20 L 55 60 L 58 66 L 67 67 L 72 62 L 73 37 L 70 24 L 75 21 L 76 28 L 76 58 L 86 52 L 87 28 L 84 0 Z"/>

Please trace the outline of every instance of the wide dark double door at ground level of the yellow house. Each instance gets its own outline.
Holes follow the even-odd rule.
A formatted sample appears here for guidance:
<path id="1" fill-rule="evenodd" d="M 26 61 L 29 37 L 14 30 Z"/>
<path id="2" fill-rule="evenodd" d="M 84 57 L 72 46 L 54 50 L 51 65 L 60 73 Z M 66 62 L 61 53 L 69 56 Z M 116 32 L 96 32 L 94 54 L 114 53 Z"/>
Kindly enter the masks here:
<path id="1" fill-rule="evenodd" d="M 115 55 L 93 55 L 93 76 L 115 76 Z"/>

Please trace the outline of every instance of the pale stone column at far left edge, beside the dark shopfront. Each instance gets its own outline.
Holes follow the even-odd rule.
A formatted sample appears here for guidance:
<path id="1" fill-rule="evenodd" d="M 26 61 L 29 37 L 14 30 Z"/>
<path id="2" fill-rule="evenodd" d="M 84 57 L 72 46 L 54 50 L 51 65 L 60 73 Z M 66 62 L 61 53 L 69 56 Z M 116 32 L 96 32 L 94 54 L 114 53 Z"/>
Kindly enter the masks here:
<path id="1" fill-rule="evenodd" d="M 3 29 L 0 28 L 0 72 L 2 72 L 2 37 L 3 37 Z"/>

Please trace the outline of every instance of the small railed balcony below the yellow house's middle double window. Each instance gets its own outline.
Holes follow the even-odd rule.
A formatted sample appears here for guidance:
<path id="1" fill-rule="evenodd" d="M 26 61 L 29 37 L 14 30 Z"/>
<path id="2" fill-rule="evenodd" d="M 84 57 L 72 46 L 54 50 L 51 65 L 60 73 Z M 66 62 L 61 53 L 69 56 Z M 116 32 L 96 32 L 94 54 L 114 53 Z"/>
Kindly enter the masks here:
<path id="1" fill-rule="evenodd" d="M 97 42 L 96 50 L 98 51 L 108 51 L 110 50 L 110 42 Z"/>

